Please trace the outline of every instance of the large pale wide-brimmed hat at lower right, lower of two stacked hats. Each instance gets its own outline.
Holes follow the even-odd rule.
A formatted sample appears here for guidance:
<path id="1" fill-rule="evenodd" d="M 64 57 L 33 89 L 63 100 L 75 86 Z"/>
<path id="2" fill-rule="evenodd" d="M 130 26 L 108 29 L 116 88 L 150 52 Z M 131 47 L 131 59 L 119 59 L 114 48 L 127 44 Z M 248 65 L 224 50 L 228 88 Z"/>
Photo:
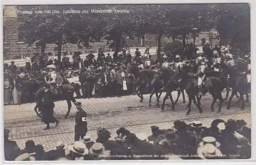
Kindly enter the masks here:
<path id="1" fill-rule="evenodd" d="M 198 147 L 197 154 L 202 159 L 207 159 L 207 157 L 222 156 L 221 151 L 216 146 L 209 143 Z"/>

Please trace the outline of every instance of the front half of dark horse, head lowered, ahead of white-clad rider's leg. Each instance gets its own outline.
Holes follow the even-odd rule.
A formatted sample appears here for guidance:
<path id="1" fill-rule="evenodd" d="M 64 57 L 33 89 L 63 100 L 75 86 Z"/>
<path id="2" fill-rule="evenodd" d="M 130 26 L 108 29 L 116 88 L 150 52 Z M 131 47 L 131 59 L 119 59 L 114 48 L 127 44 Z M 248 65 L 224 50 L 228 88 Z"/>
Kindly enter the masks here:
<path id="1" fill-rule="evenodd" d="M 193 102 L 196 104 L 196 106 L 199 108 L 199 112 L 202 113 L 202 109 L 200 107 L 201 103 L 200 103 L 200 99 L 199 96 L 197 95 L 199 92 L 199 88 L 197 87 L 197 80 L 195 78 L 195 75 L 193 73 L 186 73 L 184 71 L 180 71 L 178 73 L 176 73 L 170 80 L 169 82 L 171 84 L 180 84 L 180 86 L 185 87 L 185 91 L 188 95 L 188 111 L 187 111 L 187 115 L 189 115 L 190 111 L 191 111 L 191 102 L 193 100 Z M 196 102 L 196 98 L 198 103 Z M 174 109 L 174 108 L 173 108 Z"/>

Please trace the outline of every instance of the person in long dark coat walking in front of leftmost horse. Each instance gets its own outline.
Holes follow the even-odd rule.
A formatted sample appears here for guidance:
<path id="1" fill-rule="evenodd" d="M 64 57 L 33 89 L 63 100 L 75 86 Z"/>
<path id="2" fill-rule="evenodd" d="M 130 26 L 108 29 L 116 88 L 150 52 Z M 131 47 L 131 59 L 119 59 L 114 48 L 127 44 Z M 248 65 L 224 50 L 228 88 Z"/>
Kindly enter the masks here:
<path id="1" fill-rule="evenodd" d="M 44 91 L 44 98 L 39 102 L 39 108 L 42 113 L 42 122 L 47 124 L 44 130 L 50 129 L 50 123 L 56 123 L 58 125 L 59 121 L 53 116 L 53 108 L 54 108 L 54 97 L 53 93 L 46 89 Z"/>

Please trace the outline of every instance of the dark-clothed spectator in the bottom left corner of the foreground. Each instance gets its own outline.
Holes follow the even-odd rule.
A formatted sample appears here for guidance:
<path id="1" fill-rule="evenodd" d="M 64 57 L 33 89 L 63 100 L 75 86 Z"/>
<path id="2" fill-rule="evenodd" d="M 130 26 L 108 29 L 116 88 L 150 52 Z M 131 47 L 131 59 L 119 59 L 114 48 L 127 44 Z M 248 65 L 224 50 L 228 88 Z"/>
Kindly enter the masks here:
<path id="1" fill-rule="evenodd" d="M 9 139 L 9 129 L 4 129 L 4 152 L 5 160 L 14 160 L 18 155 L 20 155 L 20 148 L 15 141 L 10 141 Z"/>

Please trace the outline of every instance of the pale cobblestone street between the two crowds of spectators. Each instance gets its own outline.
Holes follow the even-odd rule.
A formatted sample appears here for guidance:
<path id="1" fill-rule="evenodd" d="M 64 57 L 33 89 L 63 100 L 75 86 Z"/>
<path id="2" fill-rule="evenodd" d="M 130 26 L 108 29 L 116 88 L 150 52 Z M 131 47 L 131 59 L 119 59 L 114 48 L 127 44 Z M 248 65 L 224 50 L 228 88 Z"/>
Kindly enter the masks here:
<path id="1" fill-rule="evenodd" d="M 176 98 L 177 92 L 173 94 Z M 156 125 L 162 129 L 167 129 L 173 126 L 175 120 L 184 120 L 191 122 L 200 120 L 205 126 L 210 125 L 211 121 L 217 118 L 227 120 L 244 119 L 247 125 L 251 124 L 250 103 L 246 103 L 245 110 L 241 111 L 236 105 L 238 99 L 234 98 L 231 104 L 231 109 L 227 110 L 227 101 L 223 103 L 222 112 L 216 110 L 210 111 L 212 98 L 206 95 L 201 100 L 203 114 L 199 113 L 198 108 L 192 104 L 191 113 L 186 116 L 186 103 L 178 102 L 175 106 L 175 111 L 170 111 L 169 104 L 166 104 L 164 112 L 160 111 L 160 107 L 155 106 L 156 100 L 152 99 L 152 106 L 148 106 L 149 95 L 144 96 L 143 103 L 139 102 L 137 96 L 123 96 L 121 98 L 91 98 L 77 99 L 81 101 L 84 109 L 88 113 L 88 128 L 92 139 L 96 139 L 97 127 L 108 128 L 112 132 L 112 136 L 116 135 L 115 131 L 119 127 L 125 127 L 132 132 L 151 133 L 150 126 Z M 160 100 L 162 100 L 163 94 Z M 187 98 L 186 98 L 187 101 Z M 169 103 L 169 100 L 166 101 Z M 161 104 L 161 102 L 160 102 Z M 33 111 L 35 103 L 27 103 L 22 105 L 7 105 L 4 107 L 5 128 L 11 130 L 10 139 L 15 140 L 20 148 L 24 148 L 25 142 L 34 140 L 36 144 L 41 144 L 46 150 L 55 147 L 57 141 L 63 141 L 66 145 L 74 141 L 74 115 L 75 106 L 72 104 L 70 117 L 63 117 L 67 111 L 66 101 L 55 102 L 55 117 L 60 120 L 60 124 L 55 127 L 52 125 L 49 130 L 42 130 L 46 125 L 41 123 L 40 118 Z"/>

